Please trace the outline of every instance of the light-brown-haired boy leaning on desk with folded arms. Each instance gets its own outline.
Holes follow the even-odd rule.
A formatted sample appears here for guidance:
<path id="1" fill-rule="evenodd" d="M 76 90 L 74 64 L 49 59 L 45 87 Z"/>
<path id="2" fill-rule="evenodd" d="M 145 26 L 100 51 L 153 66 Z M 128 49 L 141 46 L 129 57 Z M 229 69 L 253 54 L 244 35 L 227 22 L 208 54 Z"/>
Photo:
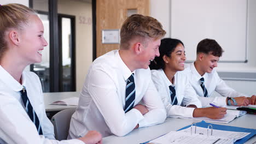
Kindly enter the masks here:
<path id="1" fill-rule="evenodd" d="M 153 17 L 136 14 L 125 20 L 120 49 L 98 57 L 88 71 L 69 138 L 91 129 L 103 137 L 124 136 L 135 128 L 165 121 L 166 111 L 148 67 L 159 56 L 165 33 Z M 141 100 L 144 105 L 138 104 Z"/>

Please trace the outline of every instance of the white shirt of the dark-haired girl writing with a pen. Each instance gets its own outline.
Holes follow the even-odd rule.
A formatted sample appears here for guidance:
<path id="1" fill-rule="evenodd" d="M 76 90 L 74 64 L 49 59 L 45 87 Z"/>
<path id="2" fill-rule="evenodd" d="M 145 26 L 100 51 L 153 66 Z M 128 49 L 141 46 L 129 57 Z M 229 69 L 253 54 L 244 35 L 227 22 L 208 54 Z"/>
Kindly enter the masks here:
<path id="1" fill-rule="evenodd" d="M 202 107 L 201 101 L 197 99 L 197 95 L 193 87 L 189 84 L 187 75 L 184 75 L 182 71 L 178 71 L 174 75 L 173 83 L 168 80 L 164 70 L 162 69 L 151 70 L 151 73 L 155 87 L 165 105 L 167 117 L 193 117 L 195 108 L 184 106 L 196 105 L 198 108 Z M 171 104 L 170 85 L 175 86 L 176 97 L 178 100 L 177 105 Z"/>

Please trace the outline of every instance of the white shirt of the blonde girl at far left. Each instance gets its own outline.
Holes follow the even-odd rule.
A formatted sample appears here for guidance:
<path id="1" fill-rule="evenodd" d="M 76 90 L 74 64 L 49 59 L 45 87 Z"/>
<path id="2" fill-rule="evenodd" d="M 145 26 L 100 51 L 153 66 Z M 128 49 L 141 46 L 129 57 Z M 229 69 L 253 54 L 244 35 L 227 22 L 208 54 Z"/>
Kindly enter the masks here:
<path id="1" fill-rule="evenodd" d="M 21 89 L 26 87 L 27 97 L 37 113 L 43 135 L 25 111 Z M 43 92 L 36 74 L 22 73 L 22 85 L 0 65 L 0 143 L 83 143 L 80 140 L 57 141 L 54 127 L 46 117 Z"/>

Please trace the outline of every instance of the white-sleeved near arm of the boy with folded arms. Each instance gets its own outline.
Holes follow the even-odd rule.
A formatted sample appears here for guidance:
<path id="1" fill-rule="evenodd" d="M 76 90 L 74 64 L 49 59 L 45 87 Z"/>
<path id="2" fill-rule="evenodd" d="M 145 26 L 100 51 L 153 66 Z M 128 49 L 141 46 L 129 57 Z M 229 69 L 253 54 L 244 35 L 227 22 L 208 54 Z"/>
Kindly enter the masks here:
<path id="1" fill-rule="evenodd" d="M 101 69 L 94 69 L 88 75 L 88 91 L 98 110 L 101 112 L 110 131 L 117 136 L 130 133 L 144 119 L 141 112 L 132 109 L 124 112 L 121 99 L 117 93 L 118 83 L 114 83 L 110 74 Z M 121 99 L 120 99 L 121 98 Z"/>

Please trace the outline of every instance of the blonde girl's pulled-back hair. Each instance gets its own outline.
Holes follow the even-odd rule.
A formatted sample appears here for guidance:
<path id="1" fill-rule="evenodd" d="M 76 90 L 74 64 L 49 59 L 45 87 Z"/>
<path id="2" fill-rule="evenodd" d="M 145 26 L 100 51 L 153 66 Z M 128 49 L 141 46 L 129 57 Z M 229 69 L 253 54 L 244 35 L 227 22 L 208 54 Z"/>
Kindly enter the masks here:
<path id="1" fill-rule="evenodd" d="M 28 24 L 28 17 L 36 15 L 36 11 L 22 4 L 0 5 L 0 60 L 7 50 L 5 35 L 10 28 L 22 30 Z"/>

